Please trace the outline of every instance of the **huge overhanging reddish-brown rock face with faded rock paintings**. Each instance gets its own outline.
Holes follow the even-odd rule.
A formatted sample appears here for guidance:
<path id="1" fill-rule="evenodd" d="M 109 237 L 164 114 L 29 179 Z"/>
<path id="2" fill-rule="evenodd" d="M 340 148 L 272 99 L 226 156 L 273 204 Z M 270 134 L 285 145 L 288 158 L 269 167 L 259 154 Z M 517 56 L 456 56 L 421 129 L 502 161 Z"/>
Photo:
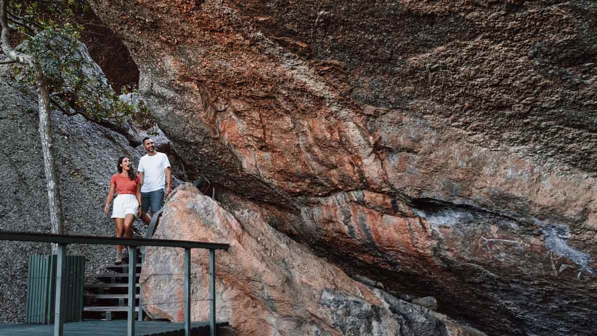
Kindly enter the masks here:
<path id="1" fill-rule="evenodd" d="M 597 329 L 594 2 L 93 7 L 227 208 L 492 334 Z"/>

